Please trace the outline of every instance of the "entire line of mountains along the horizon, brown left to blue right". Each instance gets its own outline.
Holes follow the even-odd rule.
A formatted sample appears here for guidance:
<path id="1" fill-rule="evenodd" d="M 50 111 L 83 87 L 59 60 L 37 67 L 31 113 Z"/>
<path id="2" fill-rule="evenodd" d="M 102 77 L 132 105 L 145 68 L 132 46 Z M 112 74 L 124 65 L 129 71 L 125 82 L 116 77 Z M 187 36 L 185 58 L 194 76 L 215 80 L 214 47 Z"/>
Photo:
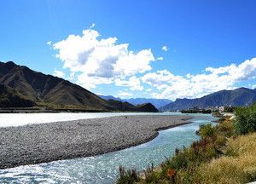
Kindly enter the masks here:
<path id="1" fill-rule="evenodd" d="M 62 78 L 35 72 L 14 62 L 0 62 L 0 107 L 47 107 L 90 112 L 177 111 L 194 106 L 249 106 L 256 101 L 256 89 L 221 90 L 195 99 L 120 99 L 98 96 Z"/>

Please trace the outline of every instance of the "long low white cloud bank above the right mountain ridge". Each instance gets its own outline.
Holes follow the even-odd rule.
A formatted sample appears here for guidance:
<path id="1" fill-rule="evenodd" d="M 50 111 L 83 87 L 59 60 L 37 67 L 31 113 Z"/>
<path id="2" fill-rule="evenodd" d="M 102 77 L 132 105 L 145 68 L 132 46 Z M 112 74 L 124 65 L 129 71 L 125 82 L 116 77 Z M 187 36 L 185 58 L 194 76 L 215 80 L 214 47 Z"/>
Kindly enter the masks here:
<path id="1" fill-rule="evenodd" d="M 234 89 L 236 83 L 246 81 L 256 76 L 256 58 L 246 60 L 240 65 L 212 68 L 207 67 L 205 72 L 185 76 L 177 76 L 167 70 L 149 72 L 142 78 L 159 93 L 152 93 L 156 98 L 195 98 L 222 89 Z"/>

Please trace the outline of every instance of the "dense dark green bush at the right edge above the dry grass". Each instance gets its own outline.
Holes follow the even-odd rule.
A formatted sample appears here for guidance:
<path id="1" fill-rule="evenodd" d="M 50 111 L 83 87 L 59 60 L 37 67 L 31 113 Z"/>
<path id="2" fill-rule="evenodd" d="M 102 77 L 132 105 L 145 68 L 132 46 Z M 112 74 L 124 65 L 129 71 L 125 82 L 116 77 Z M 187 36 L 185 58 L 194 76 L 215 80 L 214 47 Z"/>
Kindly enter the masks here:
<path id="1" fill-rule="evenodd" d="M 256 103 L 253 106 L 236 108 L 234 129 L 238 135 L 256 131 Z"/>

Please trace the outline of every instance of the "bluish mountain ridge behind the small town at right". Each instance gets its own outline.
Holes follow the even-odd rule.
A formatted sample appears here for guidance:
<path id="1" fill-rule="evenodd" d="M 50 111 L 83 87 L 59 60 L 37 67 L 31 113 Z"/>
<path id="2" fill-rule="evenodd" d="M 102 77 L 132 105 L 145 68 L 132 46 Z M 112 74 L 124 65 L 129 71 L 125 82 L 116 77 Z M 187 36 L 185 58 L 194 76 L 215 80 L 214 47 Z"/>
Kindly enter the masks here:
<path id="1" fill-rule="evenodd" d="M 186 110 L 197 106 L 207 108 L 212 106 L 249 106 L 256 101 L 256 89 L 239 88 L 233 90 L 221 90 L 210 95 L 195 99 L 177 99 L 166 106 L 160 107 L 160 111 Z"/>

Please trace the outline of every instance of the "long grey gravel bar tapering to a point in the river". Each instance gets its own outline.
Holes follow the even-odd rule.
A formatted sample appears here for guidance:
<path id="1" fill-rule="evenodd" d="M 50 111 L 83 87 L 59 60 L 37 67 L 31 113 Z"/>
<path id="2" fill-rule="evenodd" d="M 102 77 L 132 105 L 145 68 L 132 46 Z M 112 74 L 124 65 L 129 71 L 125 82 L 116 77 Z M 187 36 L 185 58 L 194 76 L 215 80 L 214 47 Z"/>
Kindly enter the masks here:
<path id="1" fill-rule="evenodd" d="M 81 158 L 137 146 L 189 116 L 138 115 L 0 128 L 0 169 Z"/>

